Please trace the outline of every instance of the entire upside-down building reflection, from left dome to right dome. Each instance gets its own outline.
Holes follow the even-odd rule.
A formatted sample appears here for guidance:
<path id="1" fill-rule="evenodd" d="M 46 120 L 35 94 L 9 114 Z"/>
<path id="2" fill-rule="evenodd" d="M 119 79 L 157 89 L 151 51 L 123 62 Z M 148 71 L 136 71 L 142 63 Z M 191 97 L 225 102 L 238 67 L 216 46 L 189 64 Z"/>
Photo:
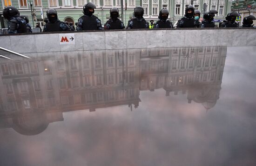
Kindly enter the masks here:
<path id="1" fill-rule="evenodd" d="M 157 88 L 209 109 L 221 89 L 226 47 L 65 52 L 0 62 L 0 128 L 33 135 L 62 112 L 139 106 Z"/>

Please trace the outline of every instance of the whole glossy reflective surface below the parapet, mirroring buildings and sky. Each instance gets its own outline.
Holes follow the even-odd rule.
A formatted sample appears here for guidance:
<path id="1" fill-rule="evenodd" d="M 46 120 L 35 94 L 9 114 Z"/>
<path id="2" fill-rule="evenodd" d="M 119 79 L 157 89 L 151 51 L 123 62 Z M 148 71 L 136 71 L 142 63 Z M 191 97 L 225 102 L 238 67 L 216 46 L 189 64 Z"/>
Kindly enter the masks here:
<path id="1" fill-rule="evenodd" d="M 0 166 L 255 166 L 255 52 L 7 54 Z"/>

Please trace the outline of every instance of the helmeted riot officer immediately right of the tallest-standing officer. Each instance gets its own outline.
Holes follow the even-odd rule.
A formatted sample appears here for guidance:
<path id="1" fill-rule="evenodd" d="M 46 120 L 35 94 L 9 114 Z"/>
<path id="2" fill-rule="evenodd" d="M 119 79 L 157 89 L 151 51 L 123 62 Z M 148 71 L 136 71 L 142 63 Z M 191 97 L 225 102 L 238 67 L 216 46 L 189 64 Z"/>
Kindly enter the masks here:
<path id="1" fill-rule="evenodd" d="M 116 7 L 112 7 L 109 11 L 110 19 L 105 23 L 104 29 L 125 29 L 123 22 L 118 19 L 119 10 Z"/>

